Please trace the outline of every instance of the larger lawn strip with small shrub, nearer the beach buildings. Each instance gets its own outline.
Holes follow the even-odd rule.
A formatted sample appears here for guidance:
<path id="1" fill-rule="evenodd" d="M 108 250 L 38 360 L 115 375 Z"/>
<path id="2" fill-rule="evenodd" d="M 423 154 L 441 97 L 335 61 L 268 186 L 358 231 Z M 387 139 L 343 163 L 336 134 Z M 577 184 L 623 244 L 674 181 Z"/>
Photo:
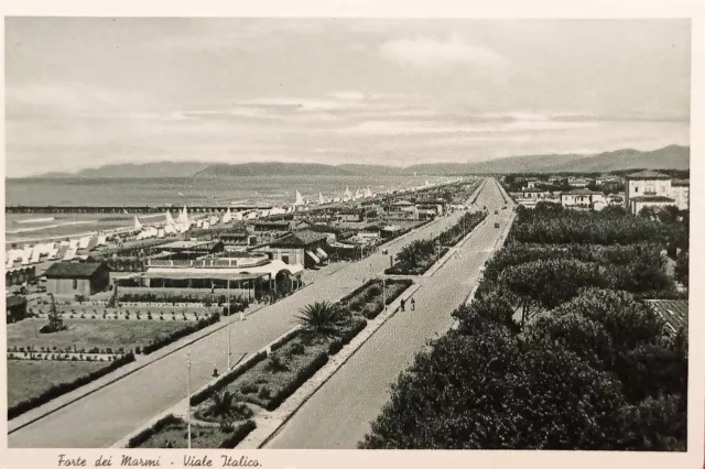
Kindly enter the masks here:
<path id="1" fill-rule="evenodd" d="M 102 320 L 65 319 L 67 330 L 54 334 L 36 334 L 48 324 L 47 319 L 25 319 L 8 325 L 8 348 L 33 346 L 48 348 L 76 347 L 77 349 L 144 347 L 173 331 L 194 324 L 186 320 Z"/>

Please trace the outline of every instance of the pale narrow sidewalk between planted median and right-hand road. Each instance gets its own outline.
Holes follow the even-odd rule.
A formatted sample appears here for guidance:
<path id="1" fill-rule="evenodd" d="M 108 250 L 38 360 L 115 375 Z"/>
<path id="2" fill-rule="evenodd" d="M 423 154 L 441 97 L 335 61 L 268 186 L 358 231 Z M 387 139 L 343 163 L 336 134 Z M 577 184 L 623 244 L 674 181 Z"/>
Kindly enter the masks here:
<path id="1" fill-rule="evenodd" d="M 254 417 L 257 428 L 252 430 L 238 446 L 238 449 L 257 449 L 264 446 L 276 432 L 301 408 L 308 399 L 323 386 L 335 373 L 343 367 L 355 352 L 365 345 L 365 342 L 397 312 L 401 301 L 408 301 L 421 288 L 421 285 L 411 285 L 394 302 L 392 302 L 387 312 L 381 313 L 375 319 L 368 321 L 367 327 L 362 329 L 355 338 L 346 345 L 338 353 L 330 357 L 328 362 L 321 368 L 311 379 L 301 385 L 286 401 L 282 403 L 275 411 L 263 411 Z"/>

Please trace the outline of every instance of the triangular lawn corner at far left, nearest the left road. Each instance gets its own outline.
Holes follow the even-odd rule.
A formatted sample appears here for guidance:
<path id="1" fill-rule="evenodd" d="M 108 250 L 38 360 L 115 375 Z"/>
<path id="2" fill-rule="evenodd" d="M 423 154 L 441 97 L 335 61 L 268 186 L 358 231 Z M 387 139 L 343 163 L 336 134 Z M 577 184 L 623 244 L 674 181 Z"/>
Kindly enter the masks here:
<path id="1" fill-rule="evenodd" d="M 40 395 L 52 384 L 74 381 L 108 364 L 86 361 L 8 360 L 8 407 Z"/>

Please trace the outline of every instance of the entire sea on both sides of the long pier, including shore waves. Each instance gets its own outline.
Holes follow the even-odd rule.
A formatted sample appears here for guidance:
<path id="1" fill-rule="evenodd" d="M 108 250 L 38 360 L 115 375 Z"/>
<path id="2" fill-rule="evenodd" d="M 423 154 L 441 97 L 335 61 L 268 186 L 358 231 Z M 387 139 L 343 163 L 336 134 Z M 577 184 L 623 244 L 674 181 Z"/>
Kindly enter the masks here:
<path id="1" fill-rule="evenodd" d="M 6 179 L 6 205 L 30 206 L 165 206 L 291 205 L 296 190 L 318 200 L 446 182 L 442 176 L 251 176 L 235 178 L 23 178 Z M 143 225 L 163 221 L 140 218 Z M 154 215 L 151 215 L 154 217 Z M 6 214 L 6 242 L 28 243 L 127 228 L 134 216 L 122 214 Z"/>

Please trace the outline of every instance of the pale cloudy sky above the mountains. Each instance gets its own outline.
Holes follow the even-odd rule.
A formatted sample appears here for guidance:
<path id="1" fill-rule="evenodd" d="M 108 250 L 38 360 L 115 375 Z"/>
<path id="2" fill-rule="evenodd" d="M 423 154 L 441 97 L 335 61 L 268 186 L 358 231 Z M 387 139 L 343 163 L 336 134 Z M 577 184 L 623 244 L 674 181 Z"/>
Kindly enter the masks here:
<path id="1" fill-rule="evenodd" d="M 6 174 L 690 142 L 687 20 L 6 18 Z"/>

